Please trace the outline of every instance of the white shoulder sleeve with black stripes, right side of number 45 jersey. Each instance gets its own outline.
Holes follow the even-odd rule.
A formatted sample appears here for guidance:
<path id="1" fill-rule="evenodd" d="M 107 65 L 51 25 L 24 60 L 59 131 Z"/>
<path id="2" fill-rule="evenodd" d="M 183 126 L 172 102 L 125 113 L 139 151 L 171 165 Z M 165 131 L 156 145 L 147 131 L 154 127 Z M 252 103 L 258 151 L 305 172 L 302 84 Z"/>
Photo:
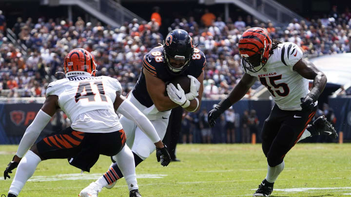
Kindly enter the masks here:
<path id="1" fill-rule="evenodd" d="M 292 67 L 302 58 L 303 53 L 296 44 L 287 42 L 281 49 L 281 60 L 292 71 Z"/>

